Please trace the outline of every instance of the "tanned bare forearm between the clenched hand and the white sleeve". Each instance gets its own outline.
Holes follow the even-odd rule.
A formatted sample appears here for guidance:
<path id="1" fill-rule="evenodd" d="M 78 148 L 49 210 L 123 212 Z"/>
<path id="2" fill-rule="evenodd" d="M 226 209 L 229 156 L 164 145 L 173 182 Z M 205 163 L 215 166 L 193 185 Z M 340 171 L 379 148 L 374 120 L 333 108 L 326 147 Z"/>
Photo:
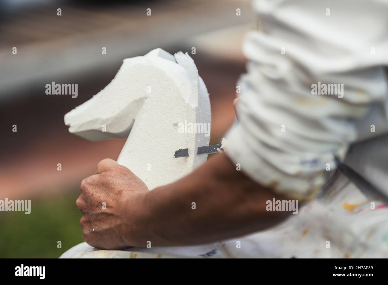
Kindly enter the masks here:
<path id="1" fill-rule="evenodd" d="M 289 215 L 266 211 L 274 197 L 288 200 L 237 171 L 225 153 L 217 154 L 175 183 L 132 197 L 137 205 L 128 213 L 126 243 L 194 245 L 263 230 Z"/>

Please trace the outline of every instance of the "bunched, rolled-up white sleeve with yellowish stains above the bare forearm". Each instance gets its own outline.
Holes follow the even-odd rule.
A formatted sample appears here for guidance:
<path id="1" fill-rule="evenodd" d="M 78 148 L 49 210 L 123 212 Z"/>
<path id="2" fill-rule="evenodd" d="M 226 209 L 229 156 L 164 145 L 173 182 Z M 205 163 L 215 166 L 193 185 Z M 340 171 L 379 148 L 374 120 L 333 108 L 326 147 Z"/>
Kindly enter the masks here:
<path id="1" fill-rule="evenodd" d="M 356 121 L 386 104 L 388 1 L 256 0 L 254 9 L 259 30 L 243 44 L 226 153 L 263 186 L 309 200 L 359 140 Z M 343 97 L 312 94 L 314 84 L 343 84 Z"/>

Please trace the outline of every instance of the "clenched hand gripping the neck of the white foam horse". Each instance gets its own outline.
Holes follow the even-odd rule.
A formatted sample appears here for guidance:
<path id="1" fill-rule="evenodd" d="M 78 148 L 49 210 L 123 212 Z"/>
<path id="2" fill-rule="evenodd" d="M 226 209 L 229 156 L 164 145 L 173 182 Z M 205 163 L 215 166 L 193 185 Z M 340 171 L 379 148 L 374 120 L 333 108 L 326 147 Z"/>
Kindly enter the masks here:
<path id="1" fill-rule="evenodd" d="M 131 245 L 131 232 L 139 229 L 134 215 L 143 207 L 145 183 L 112 159 L 97 165 L 96 174 L 81 182 L 77 207 L 83 240 L 99 249 L 124 249 Z"/>

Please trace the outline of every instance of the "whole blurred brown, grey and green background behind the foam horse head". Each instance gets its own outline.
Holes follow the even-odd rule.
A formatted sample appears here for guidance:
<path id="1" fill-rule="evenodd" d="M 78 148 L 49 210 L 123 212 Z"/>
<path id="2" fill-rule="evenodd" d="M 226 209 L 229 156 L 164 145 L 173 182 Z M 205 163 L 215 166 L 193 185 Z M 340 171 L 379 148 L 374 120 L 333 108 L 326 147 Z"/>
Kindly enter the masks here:
<path id="1" fill-rule="evenodd" d="M 125 140 L 88 142 L 63 116 L 103 89 L 123 59 L 158 47 L 189 52 L 210 93 L 214 144 L 234 121 L 241 43 L 255 28 L 249 0 L 0 0 L 0 200 L 31 200 L 29 215 L 0 212 L 0 257 L 59 257 L 83 241 L 80 182 L 101 159 L 117 159 Z M 46 95 L 52 81 L 78 84 L 78 97 Z"/>

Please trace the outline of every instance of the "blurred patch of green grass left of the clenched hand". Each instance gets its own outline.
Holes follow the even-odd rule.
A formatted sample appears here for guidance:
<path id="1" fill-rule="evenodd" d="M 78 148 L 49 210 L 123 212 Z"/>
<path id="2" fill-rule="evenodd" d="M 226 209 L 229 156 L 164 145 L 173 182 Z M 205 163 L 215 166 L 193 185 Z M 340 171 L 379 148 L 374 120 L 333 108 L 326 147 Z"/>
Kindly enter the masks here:
<path id="1" fill-rule="evenodd" d="M 31 214 L 0 212 L 0 257 L 59 257 L 83 242 L 81 212 L 75 201 L 79 192 L 31 199 Z M 62 248 L 57 248 L 57 242 Z"/>

